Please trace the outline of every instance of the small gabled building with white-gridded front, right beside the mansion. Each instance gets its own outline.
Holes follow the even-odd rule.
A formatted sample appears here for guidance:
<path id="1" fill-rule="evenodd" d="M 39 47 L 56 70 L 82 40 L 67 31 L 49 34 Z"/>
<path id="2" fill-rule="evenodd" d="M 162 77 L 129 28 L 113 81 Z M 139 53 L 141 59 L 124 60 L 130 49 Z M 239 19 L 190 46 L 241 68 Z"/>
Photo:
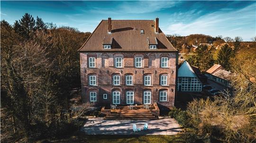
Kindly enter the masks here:
<path id="1" fill-rule="evenodd" d="M 178 91 L 181 92 L 201 92 L 202 84 L 196 72 L 189 65 L 189 63 L 184 60 L 179 65 L 178 70 Z"/>

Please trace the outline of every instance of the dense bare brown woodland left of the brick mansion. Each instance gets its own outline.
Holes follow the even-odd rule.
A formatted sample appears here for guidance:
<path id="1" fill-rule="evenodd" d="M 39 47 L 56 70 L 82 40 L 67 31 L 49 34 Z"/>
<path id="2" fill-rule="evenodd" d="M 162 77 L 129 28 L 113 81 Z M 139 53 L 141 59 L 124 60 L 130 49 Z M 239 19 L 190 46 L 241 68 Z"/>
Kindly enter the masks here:
<path id="1" fill-rule="evenodd" d="M 91 33 L 25 14 L 1 21 L 1 142 L 63 136 L 76 129 L 62 113 L 80 88 L 77 50 Z"/>

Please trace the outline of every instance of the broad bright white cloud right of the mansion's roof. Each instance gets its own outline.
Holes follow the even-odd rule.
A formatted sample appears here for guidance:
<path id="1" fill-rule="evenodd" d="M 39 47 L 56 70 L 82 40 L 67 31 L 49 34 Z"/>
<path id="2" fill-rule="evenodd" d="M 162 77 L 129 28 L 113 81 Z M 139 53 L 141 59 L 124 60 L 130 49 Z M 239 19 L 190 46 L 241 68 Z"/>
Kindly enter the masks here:
<path id="1" fill-rule="evenodd" d="M 237 11 L 225 12 L 220 10 L 211 14 L 198 17 L 192 22 L 178 22 L 166 27 L 166 34 L 209 34 L 217 36 L 242 36 L 249 40 L 256 35 L 255 4 Z M 251 28 L 251 29 L 250 29 Z"/>

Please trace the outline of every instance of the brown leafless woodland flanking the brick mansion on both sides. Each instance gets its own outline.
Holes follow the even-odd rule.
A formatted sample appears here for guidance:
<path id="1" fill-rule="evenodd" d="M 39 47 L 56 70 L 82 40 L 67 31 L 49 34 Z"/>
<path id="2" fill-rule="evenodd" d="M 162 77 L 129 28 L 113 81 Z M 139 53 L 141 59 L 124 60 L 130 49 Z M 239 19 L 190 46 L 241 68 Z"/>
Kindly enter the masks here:
<path id="1" fill-rule="evenodd" d="M 91 33 L 57 27 L 27 13 L 14 24 L 2 20 L 0 31 L 1 142 L 61 138 L 78 130 L 83 122 L 77 118 L 67 120 L 65 115 L 72 106 L 72 91 L 81 86 L 77 50 Z M 167 38 L 180 51 L 192 44 L 212 43 L 217 47 L 227 43 L 218 50 L 206 45 L 194 51 L 187 48 L 192 56 L 186 58 L 202 71 L 219 63 L 238 75 L 232 84 L 234 96 L 195 100 L 186 111 L 174 110 L 174 118 L 188 129 L 187 142 L 253 141 L 256 137 L 255 42 L 203 34 Z M 243 126 L 232 126 L 234 118 L 242 118 Z M 216 122 L 213 119 L 221 124 L 212 124 Z"/>

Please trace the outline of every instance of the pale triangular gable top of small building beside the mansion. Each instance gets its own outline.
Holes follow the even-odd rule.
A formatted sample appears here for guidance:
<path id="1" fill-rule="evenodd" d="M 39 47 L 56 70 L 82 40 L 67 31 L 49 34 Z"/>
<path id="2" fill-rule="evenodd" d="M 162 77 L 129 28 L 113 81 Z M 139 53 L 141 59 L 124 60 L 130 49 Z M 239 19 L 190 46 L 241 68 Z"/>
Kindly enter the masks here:
<path id="1" fill-rule="evenodd" d="M 178 69 L 178 77 L 197 77 L 189 63 L 184 60 Z M 198 78 L 198 77 L 197 77 Z"/>

